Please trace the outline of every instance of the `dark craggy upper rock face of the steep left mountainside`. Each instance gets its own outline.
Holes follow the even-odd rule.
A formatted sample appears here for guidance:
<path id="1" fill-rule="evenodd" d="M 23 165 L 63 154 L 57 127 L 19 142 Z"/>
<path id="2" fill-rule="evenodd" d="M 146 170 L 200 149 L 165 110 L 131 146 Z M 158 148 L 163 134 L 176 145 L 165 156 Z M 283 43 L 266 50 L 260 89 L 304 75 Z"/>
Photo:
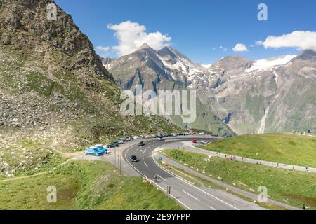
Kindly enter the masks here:
<path id="1" fill-rule="evenodd" d="M 58 50 L 73 57 L 71 64 L 60 64 L 72 71 L 87 70 L 96 76 L 113 80 L 85 34 L 74 25 L 70 15 L 57 6 L 56 20 L 48 20 L 49 0 L 3 0 L 0 3 L 0 41 L 15 50 L 34 50 L 41 56 Z M 45 59 L 45 57 L 44 57 Z M 45 62 L 45 61 L 44 61 Z M 46 63 L 50 63 L 46 60 Z"/>

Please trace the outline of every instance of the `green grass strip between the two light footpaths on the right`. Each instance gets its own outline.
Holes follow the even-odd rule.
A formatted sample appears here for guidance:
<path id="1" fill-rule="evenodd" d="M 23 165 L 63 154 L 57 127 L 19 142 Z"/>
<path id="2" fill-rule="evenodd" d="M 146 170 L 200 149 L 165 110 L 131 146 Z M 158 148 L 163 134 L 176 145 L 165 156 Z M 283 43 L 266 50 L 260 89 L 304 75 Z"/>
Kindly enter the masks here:
<path id="1" fill-rule="evenodd" d="M 259 186 L 266 186 L 272 199 L 289 202 L 297 207 L 302 207 L 305 203 L 316 209 L 314 173 L 293 172 L 222 158 L 211 158 L 210 162 L 206 162 L 208 156 L 187 151 L 167 150 L 164 153 L 189 167 L 201 172 L 204 170 L 206 175 L 214 178 L 220 176 L 226 183 L 235 183 L 238 188 L 257 190 Z"/>

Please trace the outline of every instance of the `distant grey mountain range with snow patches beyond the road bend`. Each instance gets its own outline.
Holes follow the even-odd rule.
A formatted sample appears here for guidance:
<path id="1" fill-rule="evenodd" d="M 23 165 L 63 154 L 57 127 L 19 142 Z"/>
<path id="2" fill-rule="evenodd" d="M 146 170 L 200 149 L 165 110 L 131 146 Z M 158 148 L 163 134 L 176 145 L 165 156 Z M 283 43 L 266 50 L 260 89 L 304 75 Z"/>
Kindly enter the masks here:
<path id="1" fill-rule="evenodd" d="M 197 90 L 197 120 L 183 127 L 216 134 L 291 132 L 316 129 L 316 52 L 251 61 L 223 57 L 211 65 L 192 62 L 171 47 L 144 43 L 103 66 L 122 90 Z"/>

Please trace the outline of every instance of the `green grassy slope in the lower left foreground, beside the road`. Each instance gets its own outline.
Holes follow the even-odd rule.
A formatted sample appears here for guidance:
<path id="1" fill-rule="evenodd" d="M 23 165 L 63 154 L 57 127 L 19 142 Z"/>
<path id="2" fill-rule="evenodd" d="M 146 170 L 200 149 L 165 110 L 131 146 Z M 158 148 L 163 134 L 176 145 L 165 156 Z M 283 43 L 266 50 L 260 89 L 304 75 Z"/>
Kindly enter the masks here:
<path id="1" fill-rule="evenodd" d="M 48 186 L 57 203 L 46 201 Z M 0 181 L 0 209 L 182 209 L 140 178 L 119 176 L 106 162 L 68 162 L 29 179 Z"/>

